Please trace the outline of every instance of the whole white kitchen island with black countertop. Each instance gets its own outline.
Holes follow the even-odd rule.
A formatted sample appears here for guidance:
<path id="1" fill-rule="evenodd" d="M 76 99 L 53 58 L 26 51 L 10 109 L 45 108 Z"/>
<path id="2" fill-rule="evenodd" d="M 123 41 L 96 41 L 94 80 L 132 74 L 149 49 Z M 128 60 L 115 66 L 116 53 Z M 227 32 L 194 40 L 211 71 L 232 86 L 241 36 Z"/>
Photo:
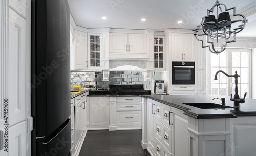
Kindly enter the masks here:
<path id="1" fill-rule="evenodd" d="M 213 98 L 225 98 L 225 106 Z M 151 155 L 255 155 L 256 100 L 245 99 L 234 109 L 229 99 L 217 95 L 144 96 L 142 147 Z M 195 103 L 215 103 L 219 108 L 190 106 Z"/>

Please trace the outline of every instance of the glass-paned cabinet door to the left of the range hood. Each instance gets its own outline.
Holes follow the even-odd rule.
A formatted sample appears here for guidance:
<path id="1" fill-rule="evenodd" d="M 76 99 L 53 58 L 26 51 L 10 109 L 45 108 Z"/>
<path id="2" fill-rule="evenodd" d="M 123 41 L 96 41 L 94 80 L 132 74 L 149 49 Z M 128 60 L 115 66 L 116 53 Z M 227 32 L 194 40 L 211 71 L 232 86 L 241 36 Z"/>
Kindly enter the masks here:
<path id="1" fill-rule="evenodd" d="M 88 34 L 89 44 L 89 69 L 101 68 L 101 34 Z"/>

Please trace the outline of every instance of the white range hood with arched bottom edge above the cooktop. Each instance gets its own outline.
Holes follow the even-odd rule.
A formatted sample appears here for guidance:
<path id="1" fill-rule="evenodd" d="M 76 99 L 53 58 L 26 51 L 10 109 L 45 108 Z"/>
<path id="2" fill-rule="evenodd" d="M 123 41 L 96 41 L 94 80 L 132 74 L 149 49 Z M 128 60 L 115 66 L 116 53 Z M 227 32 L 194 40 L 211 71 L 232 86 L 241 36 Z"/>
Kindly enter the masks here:
<path id="1" fill-rule="evenodd" d="M 110 71 L 145 71 L 147 69 L 145 58 L 109 58 Z"/>

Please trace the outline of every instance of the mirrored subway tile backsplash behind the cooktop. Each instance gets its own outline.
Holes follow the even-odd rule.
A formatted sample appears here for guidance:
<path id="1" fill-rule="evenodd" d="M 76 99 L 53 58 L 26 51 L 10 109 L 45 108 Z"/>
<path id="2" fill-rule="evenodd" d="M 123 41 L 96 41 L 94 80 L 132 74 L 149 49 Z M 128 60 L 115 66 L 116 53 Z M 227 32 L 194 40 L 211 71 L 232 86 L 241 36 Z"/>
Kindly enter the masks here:
<path id="1" fill-rule="evenodd" d="M 102 72 L 88 72 L 83 77 L 85 85 L 94 85 L 96 88 L 109 88 L 110 84 L 143 84 L 145 90 L 151 90 L 151 80 L 162 80 L 162 72 L 150 72 L 150 80 L 146 75 L 137 71 L 110 71 L 109 81 L 102 81 Z"/>

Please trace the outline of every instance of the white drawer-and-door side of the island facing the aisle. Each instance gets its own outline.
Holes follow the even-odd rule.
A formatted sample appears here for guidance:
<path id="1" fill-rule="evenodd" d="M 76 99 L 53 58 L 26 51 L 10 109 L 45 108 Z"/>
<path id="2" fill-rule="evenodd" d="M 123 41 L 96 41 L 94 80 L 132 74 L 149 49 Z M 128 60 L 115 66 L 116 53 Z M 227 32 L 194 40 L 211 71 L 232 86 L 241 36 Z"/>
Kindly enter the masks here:
<path id="1" fill-rule="evenodd" d="M 188 118 L 182 110 L 147 99 L 147 150 L 151 155 L 188 155 Z"/>

